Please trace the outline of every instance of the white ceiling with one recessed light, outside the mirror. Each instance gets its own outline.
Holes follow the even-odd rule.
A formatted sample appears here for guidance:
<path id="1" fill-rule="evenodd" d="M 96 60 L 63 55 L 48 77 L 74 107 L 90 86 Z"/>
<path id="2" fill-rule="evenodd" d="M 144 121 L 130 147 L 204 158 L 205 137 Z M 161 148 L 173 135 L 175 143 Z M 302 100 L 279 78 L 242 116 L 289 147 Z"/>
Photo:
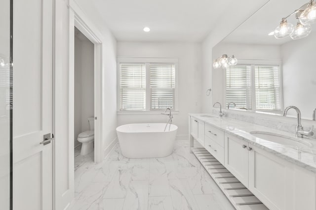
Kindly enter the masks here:
<path id="1" fill-rule="evenodd" d="M 233 0 L 76 1 L 93 6 L 118 41 L 199 42 Z"/>

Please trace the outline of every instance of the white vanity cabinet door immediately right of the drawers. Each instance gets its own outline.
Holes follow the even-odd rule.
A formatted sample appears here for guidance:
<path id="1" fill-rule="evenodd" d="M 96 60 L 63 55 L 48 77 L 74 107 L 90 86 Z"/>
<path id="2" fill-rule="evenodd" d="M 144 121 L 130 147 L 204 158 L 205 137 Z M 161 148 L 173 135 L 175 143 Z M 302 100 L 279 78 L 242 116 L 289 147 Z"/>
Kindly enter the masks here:
<path id="1" fill-rule="evenodd" d="M 225 167 L 248 186 L 248 143 L 225 133 Z"/>

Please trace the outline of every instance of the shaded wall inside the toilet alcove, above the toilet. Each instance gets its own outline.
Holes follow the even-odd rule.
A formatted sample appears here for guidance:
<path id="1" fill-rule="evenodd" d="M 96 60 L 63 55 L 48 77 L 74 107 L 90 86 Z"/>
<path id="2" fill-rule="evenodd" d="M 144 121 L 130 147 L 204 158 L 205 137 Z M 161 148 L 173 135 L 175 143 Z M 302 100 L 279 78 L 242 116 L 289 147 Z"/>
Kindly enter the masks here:
<path id="1" fill-rule="evenodd" d="M 75 35 L 75 147 L 79 133 L 89 130 L 94 116 L 94 45 L 82 33 Z"/>

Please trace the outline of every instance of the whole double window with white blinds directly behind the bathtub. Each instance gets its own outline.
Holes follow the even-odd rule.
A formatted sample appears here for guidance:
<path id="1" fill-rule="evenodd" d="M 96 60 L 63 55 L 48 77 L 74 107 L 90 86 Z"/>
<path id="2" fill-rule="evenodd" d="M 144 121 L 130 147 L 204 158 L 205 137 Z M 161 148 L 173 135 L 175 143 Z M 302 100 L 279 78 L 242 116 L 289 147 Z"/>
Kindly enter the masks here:
<path id="1" fill-rule="evenodd" d="M 176 110 L 177 60 L 118 60 L 119 111 Z"/>

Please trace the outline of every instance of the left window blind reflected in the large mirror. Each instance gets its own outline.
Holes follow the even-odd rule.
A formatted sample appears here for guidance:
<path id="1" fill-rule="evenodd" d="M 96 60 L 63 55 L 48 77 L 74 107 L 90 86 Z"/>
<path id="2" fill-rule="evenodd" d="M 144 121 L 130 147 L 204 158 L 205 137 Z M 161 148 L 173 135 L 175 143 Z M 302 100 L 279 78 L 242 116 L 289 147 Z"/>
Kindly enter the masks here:
<path id="1" fill-rule="evenodd" d="M 251 65 L 235 65 L 226 69 L 226 106 L 251 109 Z"/>

